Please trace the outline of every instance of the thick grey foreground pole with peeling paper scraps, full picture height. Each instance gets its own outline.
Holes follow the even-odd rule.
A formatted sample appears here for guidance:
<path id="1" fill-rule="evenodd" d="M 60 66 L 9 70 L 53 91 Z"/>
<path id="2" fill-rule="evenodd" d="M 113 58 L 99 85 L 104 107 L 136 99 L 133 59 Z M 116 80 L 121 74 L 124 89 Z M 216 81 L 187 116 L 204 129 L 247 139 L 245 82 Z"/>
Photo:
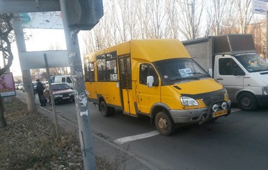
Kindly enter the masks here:
<path id="1" fill-rule="evenodd" d="M 60 0 L 61 13 L 63 15 L 63 28 L 65 31 L 65 40 L 74 88 L 77 122 L 79 126 L 79 138 L 81 151 L 84 158 L 84 169 L 96 169 L 95 155 L 93 154 L 93 140 L 89 121 L 88 101 L 77 37 L 78 31 L 71 31 L 68 26 L 65 3 L 65 0 Z"/>

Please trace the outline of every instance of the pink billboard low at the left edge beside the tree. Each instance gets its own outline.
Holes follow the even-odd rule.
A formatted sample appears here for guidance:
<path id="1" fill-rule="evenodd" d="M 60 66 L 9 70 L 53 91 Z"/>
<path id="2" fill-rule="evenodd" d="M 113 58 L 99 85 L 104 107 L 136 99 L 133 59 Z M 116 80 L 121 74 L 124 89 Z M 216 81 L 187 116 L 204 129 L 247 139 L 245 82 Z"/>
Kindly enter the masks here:
<path id="1" fill-rule="evenodd" d="M 2 97 L 16 95 L 12 73 L 3 73 L 0 76 L 0 94 Z"/>

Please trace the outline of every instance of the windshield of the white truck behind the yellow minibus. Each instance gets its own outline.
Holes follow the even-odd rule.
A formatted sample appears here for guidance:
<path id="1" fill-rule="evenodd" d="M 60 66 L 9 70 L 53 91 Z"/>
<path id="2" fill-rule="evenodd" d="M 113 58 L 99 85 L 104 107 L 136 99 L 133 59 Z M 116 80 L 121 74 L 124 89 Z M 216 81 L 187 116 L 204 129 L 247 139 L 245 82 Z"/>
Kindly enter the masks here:
<path id="1" fill-rule="evenodd" d="M 243 65 L 243 67 L 252 72 L 268 71 L 268 63 L 265 62 L 256 53 L 237 55 L 235 58 Z"/>

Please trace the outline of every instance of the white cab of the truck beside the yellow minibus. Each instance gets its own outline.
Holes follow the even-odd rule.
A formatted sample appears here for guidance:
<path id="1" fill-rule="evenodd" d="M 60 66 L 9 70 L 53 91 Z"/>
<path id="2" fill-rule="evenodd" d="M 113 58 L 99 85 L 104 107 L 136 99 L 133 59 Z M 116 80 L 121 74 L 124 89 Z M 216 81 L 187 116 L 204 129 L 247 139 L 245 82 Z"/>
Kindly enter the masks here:
<path id="1" fill-rule="evenodd" d="M 231 101 L 242 110 L 268 105 L 268 64 L 256 53 L 216 55 L 214 78 L 228 90 Z"/>

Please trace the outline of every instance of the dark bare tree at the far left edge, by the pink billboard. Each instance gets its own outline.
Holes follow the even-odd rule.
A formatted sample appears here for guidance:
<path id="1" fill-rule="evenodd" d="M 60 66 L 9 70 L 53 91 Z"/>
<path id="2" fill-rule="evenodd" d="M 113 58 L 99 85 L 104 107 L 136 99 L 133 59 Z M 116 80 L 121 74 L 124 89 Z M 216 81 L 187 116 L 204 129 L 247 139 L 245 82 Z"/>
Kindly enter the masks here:
<path id="1" fill-rule="evenodd" d="M 10 33 L 13 31 L 13 27 L 11 26 L 11 19 L 13 18 L 12 14 L 0 14 L 0 51 L 3 53 L 3 60 L 7 60 L 6 65 L 0 69 L 0 76 L 7 71 L 13 62 L 13 53 L 11 51 L 11 41 L 10 41 Z M 13 40 L 13 39 L 11 39 Z M 4 128 L 7 126 L 6 119 L 4 117 L 4 107 L 3 101 L 0 95 L 0 128 Z"/>

